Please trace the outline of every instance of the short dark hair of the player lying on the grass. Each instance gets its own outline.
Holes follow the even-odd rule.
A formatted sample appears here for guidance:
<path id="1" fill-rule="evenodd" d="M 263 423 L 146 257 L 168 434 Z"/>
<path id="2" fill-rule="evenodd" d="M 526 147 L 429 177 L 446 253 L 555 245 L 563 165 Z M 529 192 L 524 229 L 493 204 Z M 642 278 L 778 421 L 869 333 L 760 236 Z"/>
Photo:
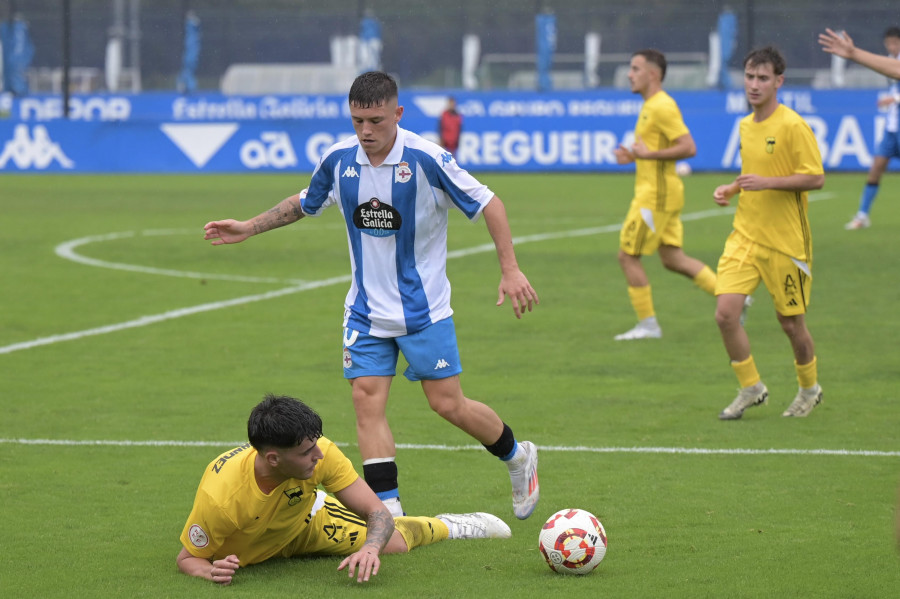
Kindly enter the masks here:
<path id="1" fill-rule="evenodd" d="M 322 419 L 299 399 L 285 395 L 266 394 L 265 399 L 250 412 L 247 439 L 257 451 L 275 447 L 296 447 L 322 436 Z"/>

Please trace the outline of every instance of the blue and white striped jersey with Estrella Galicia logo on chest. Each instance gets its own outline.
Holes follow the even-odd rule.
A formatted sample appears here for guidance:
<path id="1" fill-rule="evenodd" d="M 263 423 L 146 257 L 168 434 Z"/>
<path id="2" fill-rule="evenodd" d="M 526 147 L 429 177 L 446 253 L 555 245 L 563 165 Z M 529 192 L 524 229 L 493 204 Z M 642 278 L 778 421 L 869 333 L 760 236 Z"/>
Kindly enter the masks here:
<path id="1" fill-rule="evenodd" d="M 301 207 L 317 216 L 336 204 L 344 215 L 352 270 L 344 326 L 398 337 L 453 314 L 449 210 L 474 222 L 493 197 L 449 152 L 400 127 L 377 167 L 356 137 L 329 148 L 301 193 Z"/>

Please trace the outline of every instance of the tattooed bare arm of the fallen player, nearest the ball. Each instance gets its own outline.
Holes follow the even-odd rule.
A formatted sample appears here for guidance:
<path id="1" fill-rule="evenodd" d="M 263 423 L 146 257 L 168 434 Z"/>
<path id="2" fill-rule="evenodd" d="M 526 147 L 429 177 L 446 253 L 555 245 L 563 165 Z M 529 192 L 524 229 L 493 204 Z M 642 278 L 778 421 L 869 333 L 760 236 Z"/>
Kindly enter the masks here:
<path id="1" fill-rule="evenodd" d="M 350 511 L 364 517 L 368 528 L 366 542 L 359 551 L 344 559 L 338 570 L 347 568 L 347 574 L 352 578 L 358 568 L 357 581 L 368 581 L 370 576 L 378 574 L 378 568 L 381 566 L 378 556 L 394 535 L 394 519 L 375 492 L 361 478 L 334 495 Z"/>

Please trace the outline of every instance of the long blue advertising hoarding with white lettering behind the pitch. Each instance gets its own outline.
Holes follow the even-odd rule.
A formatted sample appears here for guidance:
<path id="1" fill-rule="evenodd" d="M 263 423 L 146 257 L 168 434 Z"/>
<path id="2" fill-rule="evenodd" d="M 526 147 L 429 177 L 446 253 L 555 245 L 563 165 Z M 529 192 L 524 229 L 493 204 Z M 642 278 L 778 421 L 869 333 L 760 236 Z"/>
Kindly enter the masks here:
<path id="1" fill-rule="evenodd" d="M 884 131 L 879 90 L 787 89 L 782 102 L 810 124 L 827 170 L 864 171 Z M 434 141 L 444 92 L 401 92 L 401 126 Z M 741 91 L 671 92 L 697 143 L 694 171 L 740 167 Z M 463 115 L 457 160 L 473 172 L 615 172 L 640 96 L 627 91 L 453 91 Z M 346 95 L 0 96 L 0 172 L 310 172 L 353 134 Z"/>

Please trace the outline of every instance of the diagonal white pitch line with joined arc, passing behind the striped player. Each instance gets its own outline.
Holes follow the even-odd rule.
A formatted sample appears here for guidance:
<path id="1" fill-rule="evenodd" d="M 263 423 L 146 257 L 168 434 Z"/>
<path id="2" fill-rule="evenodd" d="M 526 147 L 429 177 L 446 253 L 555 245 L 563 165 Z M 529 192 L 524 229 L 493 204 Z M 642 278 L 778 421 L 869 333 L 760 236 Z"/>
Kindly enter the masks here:
<path id="1" fill-rule="evenodd" d="M 810 194 L 809 201 L 814 202 L 818 200 L 827 200 L 834 197 L 833 193 L 830 192 L 819 192 L 815 194 Z M 734 214 L 734 208 L 715 208 L 712 210 L 703 210 L 700 212 L 691 212 L 688 214 L 681 215 L 682 220 L 700 220 L 704 218 L 712 218 L 715 216 L 723 216 L 727 214 Z M 533 243 L 536 241 L 549 241 L 551 239 L 564 239 L 569 237 L 584 237 L 586 235 L 598 235 L 601 233 L 614 233 L 622 228 L 621 224 L 616 225 L 606 225 L 603 227 L 590 227 L 587 229 L 573 229 L 571 231 L 558 231 L 556 233 L 539 233 L 535 235 L 524 235 L 522 237 L 513 238 L 513 243 L 516 245 L 521 245 L 523 243 Z M 162 230 L 148 230 L 141 233 L 142 235 L 171 235 L 174 233 L 181 232 L 176 229 L 162 229 Z M 274 279 L 274 278 L 257 278 L 257 277 L 244 277 L 240 275 L 216 275 L 216 274 L 206 274 L 206 273 L 194 273 L 194 272 L 186 272 L 186 271 L 177 271 L 177 270 L 168 270 L 161 268 L 152 268 L 147 266 L 139 266 L 132 264 L 121 264 L 116 262 L 106 262 L 103 260 L 95 260 L 93 258 L 87 258 L 77 254 L 74 249 L 76 247 L 85 245 L 87 243 L 93 243 L 98 241 L 111 241 L 116 239 L 125 239 L 136 236 L 137 233 L 134 231 L 120 232 L 120 233 L 109 233 L 106 235 L 95 235 L 92 237 L 82 237 L 80 239 L 74 239 L 71 241 L 67 241 L 65 243 L 61 243 L 56 247 L 56 254 L 61 258 L 65 258 L 67 260 L 73 260 L 75 262 L 79 262 L 82 264 L 87 264 L 90 266 L 99 266 L 102 268 L 114 268 L 118 270 L 130 270 L 136 272 L 143 272 L 146 274 L 154 274 L 154 275 L 166 275 L 166 276 L 178 276 L 178 277 L 191 277 L 191 278 L 205 278 L 205 279 L 223 279 L 228 281 L 244 281 L 244 282 L 254 282 L 254 283 L 282 283 L 289 282 L 293 283 L 291 287 L 286 287 L 284 289 L 278 289 L 276 291 L 270 291 L 268 293 L 259 293 L 255 295 L 247 295 L 244 297 L 239 297 L 231 300 L 225 300 L 221 302 L 211 302 L 209 304 L 201 304 L 199 306 L 192 306 L 188 308 L 179 308 L 175 310 L 169 310 L 167 312 L 163 312 L 161 314 L 153 314 L 150 316 L 141 316 L 140 318 L 136 318 L 134 320 L 129 320 L 126 322 L 120 322 L 117 324 L 104 325 L 101 327 L 95 327 L 92 329 L 86 329 L 83 331 L 73 331 L 71 333 L 61 333 L 58 335 L 50 335 L 48 337 L 40 337 L 38 339 L 32 339 L 31 341 L 22 341 L 20 343 L 13 343 L 11 345 L 5 345 L 0 347 L 0 354 L 11 354 L 16 351 L 21 351 L 25 349 L 32 349 L 34 347 L 41 347 L 43 345 L 52 345 L 54 343 L 61 343 L 63 341 L 74 341 L 77 339 L 83 339 L 85 337 L 92 337 L 95 335 L 105 335 L 107 333 L 114 333 L 116 331 L 122 331 L 125 329 L 133 329 L 137 327 L 143 327 L 151 324 L 156 324 L 159 322 L 165 322 L 167 320 L 174 320 L 176 318 L 182 318 L 184 316 L 190 316 L 192 314 L 199 314 L 201 312 L 211 312 L 213 310 L 221 310 L 222 308 L 230 308 L 232 306 L 240 306 L 243 304 L 250 304 L 253 302 L 260 302 L 263 300 L 274 299 L 277 297 L 282 297 L 285 295 L 290 295 L 292 293 L 299 293 L 301 291 L 308 291 L 310 289 L 319 289 L 321 287 L 328 287 L 330 285 L 337 285 L 338 283 L 346 283 L 350 280 L 349 275 L 341 276 L 341 277 L 332 277 L 330 279 L 322 279 L 320 281 L 292 281 L 285 279 Z M 462 258 L 465 256 L 470 256 L 472 254 L 481 254 L 484 252 L 494 251 L 493 244 L 483 244 L 477 245 L 471 248 L 466 248 L 462 250 L 453 250 L 447 252 L 447 258 Z"/>

